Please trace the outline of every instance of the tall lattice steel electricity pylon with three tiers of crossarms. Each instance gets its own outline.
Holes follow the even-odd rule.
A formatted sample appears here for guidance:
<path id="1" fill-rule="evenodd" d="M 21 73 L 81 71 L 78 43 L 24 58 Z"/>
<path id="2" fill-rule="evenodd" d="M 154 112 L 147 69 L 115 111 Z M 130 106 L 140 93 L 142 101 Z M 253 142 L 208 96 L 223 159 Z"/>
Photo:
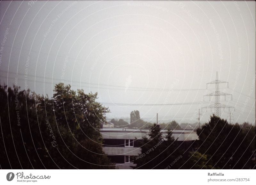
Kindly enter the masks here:
<path id="1" fill-rule="evenodd" d="M 231 100 L 233 100 L 232 94 L 220 92 L 219 84 L 221 84 L 221 83 L 227 83 L 228 84 L 228 82 L 219 80 L 218 72 L 217 72 L 216 73 L 216 80 L 206 84 L 206 89 L 208 87 L 208 84 L 215 84 L 215 92 L 204 95 L 204 96 L 215 96 L 215 103 L 211 104 L 211 105 L 208 105 L 208 106 L 205 106 L 205 107 L 202 107 L 202 108 L 214 108 L 214 110 L 215 110 L 214 114 L 218 117 L 220 117 L 220 109 L 221 108 L 224 108 L 224 109 L 225 108 L 228 108 L 228 109 L 234 108 L 234 107 L 227 106 L 227 105 L 224 105 L 224 104 L 220 103 L 220 96 L 225 96 L 225 100 L 226 100 L 226 96 L 231 95 Z"/>

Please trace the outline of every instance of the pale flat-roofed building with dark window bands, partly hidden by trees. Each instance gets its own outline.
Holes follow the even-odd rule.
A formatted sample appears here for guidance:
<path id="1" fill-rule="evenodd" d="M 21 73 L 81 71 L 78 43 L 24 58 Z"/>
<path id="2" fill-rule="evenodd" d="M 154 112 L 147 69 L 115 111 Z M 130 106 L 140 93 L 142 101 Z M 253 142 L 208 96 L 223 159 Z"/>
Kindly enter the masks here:
<path id="1" fill-rule="evenodd" d="M 161 130 L 163 137 L 167 136 L 167 130 Z M 100 133 L 104 140 L 103 151 L 108 158 L 116 163 L 118 169 L 132 169 L 132 159 L 141 153 L 140 141 L 142 137 L 148 137 L 149 129 L 128 129 L 128 128 L 102 128 Z M 194 130 L 173 130 L 172 136 L 181 143 L 188 143 L 197 140 Z M 184 142 L 185 141 L 185 142 Z"/>

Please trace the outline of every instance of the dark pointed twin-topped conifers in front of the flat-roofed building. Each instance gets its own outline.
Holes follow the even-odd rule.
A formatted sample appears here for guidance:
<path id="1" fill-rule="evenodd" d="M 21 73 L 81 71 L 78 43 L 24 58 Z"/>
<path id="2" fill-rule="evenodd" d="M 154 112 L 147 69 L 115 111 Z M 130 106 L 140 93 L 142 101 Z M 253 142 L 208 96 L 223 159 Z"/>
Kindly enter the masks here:
<path id="1" fill-rule="evenodd" d="M 136 169 L 165 169 L 168 166 L 177 169 L 183 164 L 182 150 L 176 150 L 178 145 L 169 131 L 163 137 L 159 125 L 154 124 L 148 137 L 143 138 L 141 154 L 134 158 Z M 171 166 L 170 166 L 171 165 Z"/>

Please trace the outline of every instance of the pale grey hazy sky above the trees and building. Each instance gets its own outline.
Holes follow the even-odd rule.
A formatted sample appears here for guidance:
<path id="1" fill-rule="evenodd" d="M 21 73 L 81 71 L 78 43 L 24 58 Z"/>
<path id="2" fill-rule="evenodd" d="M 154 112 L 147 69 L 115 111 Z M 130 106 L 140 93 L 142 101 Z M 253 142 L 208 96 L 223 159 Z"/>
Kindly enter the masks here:
<path id="1" fill-rule="evenodd" d="M 52 97 L 63 80 L 108 118 L 194 123 L 218 72 L 232 122 L 255 121 L 255 1 L 1 1 L 0 16 L 1 84 Z"/>

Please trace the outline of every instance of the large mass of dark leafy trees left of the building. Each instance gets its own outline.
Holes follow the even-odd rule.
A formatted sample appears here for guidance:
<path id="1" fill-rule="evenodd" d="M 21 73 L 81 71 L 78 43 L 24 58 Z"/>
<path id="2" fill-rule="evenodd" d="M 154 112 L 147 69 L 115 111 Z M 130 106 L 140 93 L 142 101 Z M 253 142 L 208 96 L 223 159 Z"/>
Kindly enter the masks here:
<path id="1" fill-rule="evenodd" d="M 96 98 L 61 83 L 52 99 L 0 86 L 1 168 L 114 168 L 99 132 L 108 108 Z"/>

